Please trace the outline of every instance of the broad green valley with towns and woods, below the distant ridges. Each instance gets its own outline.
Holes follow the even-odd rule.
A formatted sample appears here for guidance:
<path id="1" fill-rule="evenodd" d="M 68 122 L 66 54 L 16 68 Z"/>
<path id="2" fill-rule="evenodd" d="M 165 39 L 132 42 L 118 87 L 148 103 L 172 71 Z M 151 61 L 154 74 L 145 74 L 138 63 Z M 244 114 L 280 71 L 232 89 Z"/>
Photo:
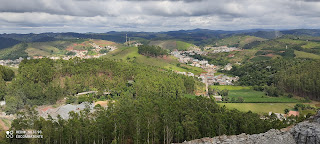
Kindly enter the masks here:
<path id="1" fill-rule="evenodd" d="M 68 37 L 0 50 L 0 96 L 5 102 L 1 106 L 2 129 L 21 127 L 14 119 L 22 112 L 29 118 L 43 117 L 47 123 L 60 120 L 64 126 L 81 117 L 86 124 L 126 127 L 128 123 L 121 119 L 134 118 L 129 125 L 146 128 L 144 134 L 149 132 L 150 122 L 168 127 L 165 132 L 169 135 L 181 127 L 198 130 L 181 138 L 174 134 L 175 141 L 181 141 L 205 133 L 217 136 L 279 129 L 303 121 L 319 109 L 319 83 L 310 81 L 319 71 L 315 67 L 320 56 L 316 37 L 266 39 L 234 34 L 203 45 L 181 37 L 183 34 L 165 40 L 134 36 L 122 42 Z M 113 120 L 103 117 L 98 121 L 101 113 Z M 149 115 L 148 119 L 144 120 L 144 115 Z M 250 115 L 250 125 L 259 126 L 236 130 L 227 126 L 246 121 L 242 115 Z M 277 121 L 273 121 L 274 115 Z M 223 129 L 211 127 L 215 133 L 210 133 L 205 128 L 215 125 Z M 132 131 L 106 127 L 128 137 L 131 134 L 123 132 Z M 152 137 L 162 134 L 157 126 L 153 128 Z M 107 141 L 114 141 L 112 134 L 104 134 L 110 137 Z"/>

